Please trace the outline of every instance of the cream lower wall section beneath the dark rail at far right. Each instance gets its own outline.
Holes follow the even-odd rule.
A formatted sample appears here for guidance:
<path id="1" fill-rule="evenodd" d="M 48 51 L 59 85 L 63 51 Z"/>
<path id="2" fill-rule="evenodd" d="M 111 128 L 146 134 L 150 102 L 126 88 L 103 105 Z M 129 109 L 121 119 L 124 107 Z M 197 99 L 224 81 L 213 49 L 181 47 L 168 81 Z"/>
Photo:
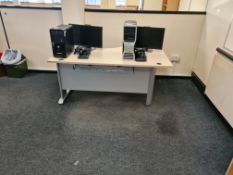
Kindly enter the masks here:
<path id="1" fill-rule="evenodd" d="M 206 95 L 233 127 L 233 62 L 216 54 L 206 84 Z"/>

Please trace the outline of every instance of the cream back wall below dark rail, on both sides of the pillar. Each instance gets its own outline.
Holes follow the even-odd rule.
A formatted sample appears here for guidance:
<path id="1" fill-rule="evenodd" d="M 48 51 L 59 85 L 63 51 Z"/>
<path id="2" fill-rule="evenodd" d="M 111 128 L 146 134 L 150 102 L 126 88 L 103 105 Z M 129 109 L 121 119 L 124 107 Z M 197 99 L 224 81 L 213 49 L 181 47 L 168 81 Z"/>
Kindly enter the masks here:
<path id="1" fill-rule="evenodd" d="M 27 56 L 29 68 L 54 70 L 55 65 L 47 63 L 52 55 L 49 29 L 62 23 L 61 11 L 1 10 L 7 13 L 4 19 L 11 46 L 20 49 Z M 121 46 L 123 23 L 128 19 L 137 20 L 141 26 L 165 27 L 164 49 L 169 57 L 173 54 L 180 55 L 181 63 L 174 70 L 160 71 L 159 74 L 178 76 L 191 74 L 204 18 L 204 15 L 85 13 L 88 24 L 103 26 L 104 47 Z M 0 46 L 3 43 L 0 40 Z"/>

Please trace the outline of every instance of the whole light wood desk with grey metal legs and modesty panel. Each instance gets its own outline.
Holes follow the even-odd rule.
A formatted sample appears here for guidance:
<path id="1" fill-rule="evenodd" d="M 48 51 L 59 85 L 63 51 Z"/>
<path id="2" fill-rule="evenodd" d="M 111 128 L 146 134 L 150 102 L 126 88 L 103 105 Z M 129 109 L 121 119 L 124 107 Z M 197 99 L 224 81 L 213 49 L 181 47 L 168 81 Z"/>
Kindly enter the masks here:
<path id="1" fill-rule="evenodd" d="M 155 70 L 172 67 L 172 63 L 162 50 L 146 55 L 146 62 L 124 60 L 119 47 L 95 49 L 89 59 L 78 59 L 74 54 L 63 60 L 49 58 L 48 62 L 57 64 L 58 103 L 63 104 L 70 91 L 79 90 L 147 94 L 146 105 L 150 105 Z"/>

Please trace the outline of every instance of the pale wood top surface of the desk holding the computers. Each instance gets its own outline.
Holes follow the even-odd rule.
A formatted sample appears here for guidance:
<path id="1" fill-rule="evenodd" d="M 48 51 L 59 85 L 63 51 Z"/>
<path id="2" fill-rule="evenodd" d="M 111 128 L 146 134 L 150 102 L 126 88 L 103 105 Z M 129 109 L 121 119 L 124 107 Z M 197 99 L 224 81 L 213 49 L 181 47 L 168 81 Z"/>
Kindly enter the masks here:
<path id="1" fill-rule="evenodd" d="M 137 62 L 135 60 L 125 60 L 122 58 L 122 48 L 104 48 L 95 49 L 91 52 L 88 59 L 78 59 L 77 55 L 70 54 L 65 59 L 51 57 L 50 63 L 59 64 L 79 64 L 79 65 L 96 65 L 96 66 L 121 66 L 121 67 L 139 67 L 139 68 L 165 68 L 172 67 L 171 61 L 163 50 L 153 50 L 146 52 L 147 61 Z"/>

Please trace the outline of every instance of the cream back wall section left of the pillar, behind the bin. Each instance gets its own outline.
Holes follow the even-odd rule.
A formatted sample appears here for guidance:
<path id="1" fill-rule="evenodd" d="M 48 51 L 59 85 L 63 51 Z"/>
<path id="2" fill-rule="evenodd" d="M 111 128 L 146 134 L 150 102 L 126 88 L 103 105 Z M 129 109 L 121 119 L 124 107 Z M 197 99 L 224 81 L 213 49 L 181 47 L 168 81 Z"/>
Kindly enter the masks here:
<path id="1" fill-rule="evenodd" d="M 60 10 L 1 9 L 12 48 L 28 58 L 30 69 L 54 70 L 49 29 L 62 23 Z M 1 36 L 1 35 L 0 35 Z M 4 43 L 0 41 L 0 45 Z"/>

